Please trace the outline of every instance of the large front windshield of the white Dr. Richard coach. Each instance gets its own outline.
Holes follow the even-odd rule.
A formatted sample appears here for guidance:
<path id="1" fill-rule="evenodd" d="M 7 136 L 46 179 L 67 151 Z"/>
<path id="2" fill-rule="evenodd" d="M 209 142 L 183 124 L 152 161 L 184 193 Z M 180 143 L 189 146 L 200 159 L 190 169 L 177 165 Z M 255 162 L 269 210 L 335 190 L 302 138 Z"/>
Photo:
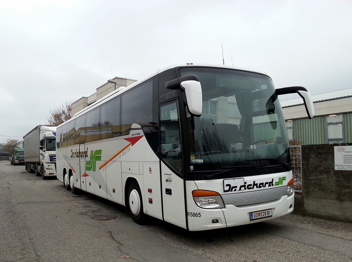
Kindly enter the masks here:
<path id="1" fill-rule="evenodd" d="M 202 115 L 187 113 L 189 171 L 258 169 L 290 162 L 283 113 L 270 77 L 209 67 L 179 72 L 196 75 L 203 95 Z"/>

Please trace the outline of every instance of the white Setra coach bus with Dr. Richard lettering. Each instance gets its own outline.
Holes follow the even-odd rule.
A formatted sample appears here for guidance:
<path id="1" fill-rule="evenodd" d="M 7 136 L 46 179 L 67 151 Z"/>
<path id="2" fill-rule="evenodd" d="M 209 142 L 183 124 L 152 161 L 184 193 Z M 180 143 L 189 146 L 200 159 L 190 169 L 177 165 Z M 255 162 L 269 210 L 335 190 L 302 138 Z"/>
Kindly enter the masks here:
<path id="1" fill-rule="evenodd" d="M 256 223 L 294 208 L 287 130 L 271 78 L 174 64 L 121 87 L 57 127 L 57 178 L 189 231 Z M 176 144 L 169 153 L 161 145 Z M 171 157 L 172 156 L 172 157 Z"/>

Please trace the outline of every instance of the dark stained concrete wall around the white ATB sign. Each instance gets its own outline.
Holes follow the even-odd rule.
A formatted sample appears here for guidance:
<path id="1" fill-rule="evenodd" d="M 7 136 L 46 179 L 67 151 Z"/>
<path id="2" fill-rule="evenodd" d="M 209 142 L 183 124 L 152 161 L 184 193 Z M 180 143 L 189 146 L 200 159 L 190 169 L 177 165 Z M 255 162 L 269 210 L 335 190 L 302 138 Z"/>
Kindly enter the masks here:
<path id="1" fill-rule="evenodd" d="M 302 145 L 302 195 L 295 212 L 330 220 L 352 222 L 352 171 L 335 170 L 334 146 Z"/>

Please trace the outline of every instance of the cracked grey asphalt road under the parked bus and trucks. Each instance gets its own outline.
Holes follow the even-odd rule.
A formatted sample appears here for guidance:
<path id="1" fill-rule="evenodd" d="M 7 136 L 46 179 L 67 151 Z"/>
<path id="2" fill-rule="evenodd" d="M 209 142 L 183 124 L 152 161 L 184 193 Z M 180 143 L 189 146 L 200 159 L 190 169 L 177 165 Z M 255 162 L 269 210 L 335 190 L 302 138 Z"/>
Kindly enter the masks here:
<path id="1" fill-rule="evenodd" d="M 352 224 L 290 214 L 187 232 L 0 161 L 0 261 L 352 262 Z"/>

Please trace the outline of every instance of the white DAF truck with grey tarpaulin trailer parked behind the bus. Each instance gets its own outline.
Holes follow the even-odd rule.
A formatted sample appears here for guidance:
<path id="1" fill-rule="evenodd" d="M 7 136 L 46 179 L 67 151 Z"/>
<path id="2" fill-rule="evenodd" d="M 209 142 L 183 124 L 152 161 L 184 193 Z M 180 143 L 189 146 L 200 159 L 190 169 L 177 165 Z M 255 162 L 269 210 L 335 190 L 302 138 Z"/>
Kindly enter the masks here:
<path id="1" fill-rule="evenodd" d="M 38 125 L 23 137 L 24 164 L 29 173 L 56 177 L 56 126 Z"/>

